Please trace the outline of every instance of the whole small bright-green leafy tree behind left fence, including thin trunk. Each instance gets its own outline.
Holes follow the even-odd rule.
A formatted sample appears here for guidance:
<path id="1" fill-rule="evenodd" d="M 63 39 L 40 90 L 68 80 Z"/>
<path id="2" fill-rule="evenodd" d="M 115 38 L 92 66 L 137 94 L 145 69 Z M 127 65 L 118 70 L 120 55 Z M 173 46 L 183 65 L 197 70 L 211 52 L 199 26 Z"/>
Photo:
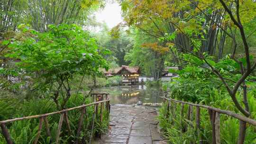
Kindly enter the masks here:
<path id="1" fill-rule="evenodd" d="M 101 55 L 108 51 L 99 48 L 96 39 L 82 27 L 50 25 L 49 31 L 43 33 L 25 25 L 19 27 L 23 29 L 19 34 L 22 38 L 9 45 L 12 52 L 7 56 L 20 60 L 16 65 L 33 78 L 34 88 L 48 93 L 55 90 L 53 99 L 58 109 L 65 107 L 71 95 L 70 82 L 75 76 L 100 76 L 100 68 L 108 70 Z"/>

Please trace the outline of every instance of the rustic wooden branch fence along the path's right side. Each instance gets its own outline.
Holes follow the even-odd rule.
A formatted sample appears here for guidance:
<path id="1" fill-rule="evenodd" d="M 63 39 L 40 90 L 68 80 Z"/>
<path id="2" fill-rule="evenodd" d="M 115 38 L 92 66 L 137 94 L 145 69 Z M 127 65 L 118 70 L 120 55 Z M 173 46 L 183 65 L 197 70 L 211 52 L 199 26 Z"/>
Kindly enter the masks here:
<path id="1" fill-rule="evenodd" d="M 206 106 L 206 105 L 199 105 L 199 104 L 194 104 L 191 102 L 185 102 L 185 101 L 181 101 L 181 100 L 176 100 L 176 99 L 170 99 L 170 98 L 166 98 L 166 97 L 162 97 L 165 101 L 165 103 L 167 104 L 167 111 L 165 114 L 165 117 L 169 117 L 169 114 L 173 114 L 175 115 L 174 111 L 176 110 L 176 104 L 181 104 L 181 116 L 183 116 L 184 112 L 184 104 L 189 105 L 188 107 L 188 111 L 187 111 L 187 120 L 193 121 L 193 107 L 196 108 L 196 114 L 195 114 L 195 128 L 196 128 L 196 132 L 197 132 L 197 136 L 199 139 L 199 144 L 203 144 L 202 138 L 201 138 L 201 131 L 200 131 L 200 110 L 201 108 L 207 109 L 208 113 L 209 113 L 209 117 L 210 117 L 210 123 L 212 126 L 212 144 L 221 144 L 220 142 L 220 114 L 224 114 L 230 117 L 234 117 L 237 118 L 240 122 L 239 122 L 239 137 L 238 137 L 238 144 L 243 144 L 244 140 L 245 140 L 245 131 L 243 130 L 242 126 L 245 126 L 247 124 L 252 125 L 252 126 L 256 126 L 256 120 L 248 118 L 248 117 L 244 117 L 242 115 L 233 113 L 229 110 L 222 110 L 219 108 L 213 108 L 210 106 Z M 175 106 L 172 106 L 175 105 Z M 173 108 L 173 109 L 171 109 Z M 173 111 L 172 111 L 173 110 Z M 175 117 L 175 116 L 174 116 Z M 182 123 L 182 121 L 180 122 Z"/>

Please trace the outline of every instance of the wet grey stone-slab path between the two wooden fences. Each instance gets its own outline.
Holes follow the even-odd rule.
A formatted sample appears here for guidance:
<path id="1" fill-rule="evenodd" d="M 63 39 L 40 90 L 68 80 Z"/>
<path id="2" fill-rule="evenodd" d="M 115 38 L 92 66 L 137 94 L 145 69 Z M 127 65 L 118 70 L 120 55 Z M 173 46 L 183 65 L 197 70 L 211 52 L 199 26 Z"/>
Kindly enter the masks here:
<path id="1" fill-rule="evenodd" d="M 154 108 L 111 105 L 110 130 L 98 144 L 166 144 L 155 119 Z"/>

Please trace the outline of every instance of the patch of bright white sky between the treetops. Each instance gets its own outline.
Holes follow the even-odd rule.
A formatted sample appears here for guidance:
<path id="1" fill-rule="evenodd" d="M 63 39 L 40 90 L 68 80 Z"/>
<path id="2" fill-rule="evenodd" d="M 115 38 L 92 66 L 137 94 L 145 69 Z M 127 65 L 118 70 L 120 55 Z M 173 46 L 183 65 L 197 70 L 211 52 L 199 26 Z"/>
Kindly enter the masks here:
<path id="1" fill-rule="evenodd" d="M 109 28 L 115 27 L 122 22 L 121 6 L 118 3 L 107 3 L 104 9 L 95 14 L 97 22 L 106 22 Z"/>

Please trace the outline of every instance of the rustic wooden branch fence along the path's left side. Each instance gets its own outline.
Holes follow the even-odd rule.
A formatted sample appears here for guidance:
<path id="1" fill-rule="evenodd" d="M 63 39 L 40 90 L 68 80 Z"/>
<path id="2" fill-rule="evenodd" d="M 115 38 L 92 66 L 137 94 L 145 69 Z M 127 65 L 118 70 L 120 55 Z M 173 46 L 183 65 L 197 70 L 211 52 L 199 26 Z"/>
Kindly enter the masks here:
<path id="1" fill-rule="evenodd" d="M 10 122 L 14 122 L 14 121 L 19 121 L 19 120 L 39 118 L 38 131 L 37 131 L 37 135 L 34 139 L 33 144 L 38 143 L 38 140 L 39 140 L 39 137 L 41 135 L 42 128 L 43 128 L 43 123 L 45 124 L 44 126 L 45 126 L 45 129 L 46 129 L 46 135 L 52 139 L 51 133 L 50 133 L 50 126 L 49 126 L 47 117 L 52 116 L 52 115 L 56 115 L 56 114 L 60 114 L 57 134 L 55 136 L 55 144 L 59 144 L 63 121 L 67 125 L 67 130 L 69 132 L 69 135 L 71 135 L 72 130 L 71 130 L 71 126 L 70 126 L 69 119 L 68 119 L 68 112 L 71 111 L 71 110 L 80 109 L 81 110 L 81 116 L 80 116 L 80 119 L 79 119 L 79 122 L 78 122 L 78 128 L 77 128 L 77 131 L 76 131 L 76 141 L 75 141 L 75 144 L 79 144 L 78 137 L 81 135 L 82 124 L 83 124 L 84 118 L 88 117 L 86 107 L 94 106 L 94 112 L 93 112 L 92 124 L 91 124 L 91 131 L 94 129 L 95 118 L 96 119 L 99 118 L 99 116 L 98 116 L 99 105 L 100 105 L 100 122 L 102 123 L 102 121 L 103 121 L 103 109 L 104 109 L 104 107 L 106 108 L 106 110 L 108 112 L 107 118 L 109 119 L 109 114 L 110 114 L 109 94 L 108 93 L 97 93 L 97 94 L 91 94 L 91 96 L 93 97 L 94 102 L 90 103 L 90 104 L 86 104 L 86 105 L 82 105 L 82 106 L 78 106 L 78 107 L 73 107 L 73 108 L 67 108 L 67 109 L 64 109 L 64 110 L 60 110 L 60 111 L 56 111 L 56 112 L 52 112 L 52 113 L 47 113 L 47 114 L 42 114 L 42 115 L 35 115 L 35 116 L 29 116 L 29 117 L 19 117 L 19 118 L 0 121 L 0 127 L 1 127 L 1 130 L 2 130 L 2 135 L 5 137 L 5 140 L 6 140 L 7 144 L 14 144 L 12 139 L 11 139 L 11 135 L 9 134 L 9 131 L 8 131 L 8 128 L 7 128 L 6 124 L 10 123 Z M 104 97 L 105 97 L 105 100 L 104 100 Z M 91 140 L 92 140 L 92 135 L 90 135 L 89 144 L 91 144 Z"/>

